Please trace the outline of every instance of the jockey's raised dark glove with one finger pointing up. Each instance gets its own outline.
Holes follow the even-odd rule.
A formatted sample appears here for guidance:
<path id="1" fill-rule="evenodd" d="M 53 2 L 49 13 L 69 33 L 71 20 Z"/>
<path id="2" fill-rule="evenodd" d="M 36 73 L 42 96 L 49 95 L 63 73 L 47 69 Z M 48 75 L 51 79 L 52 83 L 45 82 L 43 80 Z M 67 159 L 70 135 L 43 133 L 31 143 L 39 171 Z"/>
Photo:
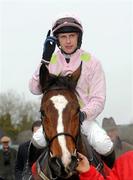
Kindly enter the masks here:
<path id="1" fill-rule="evenodd" d="M 50 33 L 51 33 L 51 30 L 48 31 L 46 40 L 44 42 L 43 54 L 42 54 L 42 59 L 46 63 L 49 63 L 56 47 L 56 37 L 50 36 Z"/>

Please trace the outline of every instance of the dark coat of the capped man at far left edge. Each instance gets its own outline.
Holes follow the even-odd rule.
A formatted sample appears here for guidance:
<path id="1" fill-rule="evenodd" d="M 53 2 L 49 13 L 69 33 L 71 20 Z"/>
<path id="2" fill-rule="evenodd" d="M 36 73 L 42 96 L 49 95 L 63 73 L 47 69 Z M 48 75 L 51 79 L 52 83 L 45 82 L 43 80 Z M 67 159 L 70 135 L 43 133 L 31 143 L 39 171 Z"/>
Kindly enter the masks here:
<path id="1" fill-rule="evenodd" d="M 4 180 L 15 179 L 15 161 L 17 151 L 13 148 L 9 148 L 7 152 L 0 150 L 0 177 Z"/>

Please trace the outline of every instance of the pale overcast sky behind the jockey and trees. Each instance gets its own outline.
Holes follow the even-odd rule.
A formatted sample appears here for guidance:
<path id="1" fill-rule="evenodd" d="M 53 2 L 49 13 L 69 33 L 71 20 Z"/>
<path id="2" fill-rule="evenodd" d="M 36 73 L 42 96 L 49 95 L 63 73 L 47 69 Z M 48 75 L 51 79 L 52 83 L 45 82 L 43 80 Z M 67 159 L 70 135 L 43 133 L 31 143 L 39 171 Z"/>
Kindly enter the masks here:
<path id="1" fill-rule="evenodd" d="M 53 19 L 64 12 L 80 17 L 82 48 L 102 63 L 107 82 L 103 117 L 133 123 L 133 29 L 131 0 L 1 0 L 0 93 L 15 90 L 38 100 L 28 81 L 40 62 Z"/>

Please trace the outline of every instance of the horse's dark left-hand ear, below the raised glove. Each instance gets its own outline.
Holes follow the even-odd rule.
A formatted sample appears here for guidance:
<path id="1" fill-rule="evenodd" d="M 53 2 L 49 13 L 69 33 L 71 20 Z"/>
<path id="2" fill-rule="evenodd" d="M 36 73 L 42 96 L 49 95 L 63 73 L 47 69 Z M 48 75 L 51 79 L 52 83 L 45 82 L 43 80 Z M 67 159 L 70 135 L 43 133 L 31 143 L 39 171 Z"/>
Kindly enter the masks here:
<path id="1" fill-rule="evenodd" d="M 49 78 L 48 68 L 45 66 L 44 63 L 42 63 L 42 65 L 40 66 L 40 71 L 39 71 L 39 82 L 40 82 L 42 92 L 45 88 L 45 83 L 48 80 L 48 78 Z"/>

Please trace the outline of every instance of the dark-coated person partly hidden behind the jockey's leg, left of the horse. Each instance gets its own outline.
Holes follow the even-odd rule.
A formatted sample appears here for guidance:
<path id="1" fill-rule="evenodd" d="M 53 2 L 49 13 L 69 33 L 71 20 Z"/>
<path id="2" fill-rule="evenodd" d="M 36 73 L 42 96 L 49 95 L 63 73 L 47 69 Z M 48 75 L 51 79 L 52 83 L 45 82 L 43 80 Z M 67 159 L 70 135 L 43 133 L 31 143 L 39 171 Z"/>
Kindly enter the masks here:
<path id="1" fill-rule="evenodd" d="M 41 121 L 40 120 L 35 121 L 32 124 L 32 128 L 31 128 L 32 133 L 34 134 L 40 126 L 41 126 Z M 24 173 L 26 173 L 26 172 L 24 172 L 24 171 L 26 171 L 26 168 L 30 167 L 32 165 L 32 163 L 34 161 L 36 161 L 37 157 L 41 153 L 40 152 L 41 150 L 36 152 L 36 150 L 33 150 L 31 148 L 32 150 L 30 150 L 30 151 L 32 151 L 32 152 L 29 154 L 30 148 L 31 148 L 30 140 L 20 144 L 20 146 L 18 148 L 16 164 L 15 164 L 15 179 L 16 180 L 22 180 Z M 33 151 L 35 151 L 35 153 Z M 33 156 L 32 156 L 32 153 L 33 153 Z M 30 161 L 30 165 L 27 167 L 27 163 L 29 163 L 29 161 Z"/>

